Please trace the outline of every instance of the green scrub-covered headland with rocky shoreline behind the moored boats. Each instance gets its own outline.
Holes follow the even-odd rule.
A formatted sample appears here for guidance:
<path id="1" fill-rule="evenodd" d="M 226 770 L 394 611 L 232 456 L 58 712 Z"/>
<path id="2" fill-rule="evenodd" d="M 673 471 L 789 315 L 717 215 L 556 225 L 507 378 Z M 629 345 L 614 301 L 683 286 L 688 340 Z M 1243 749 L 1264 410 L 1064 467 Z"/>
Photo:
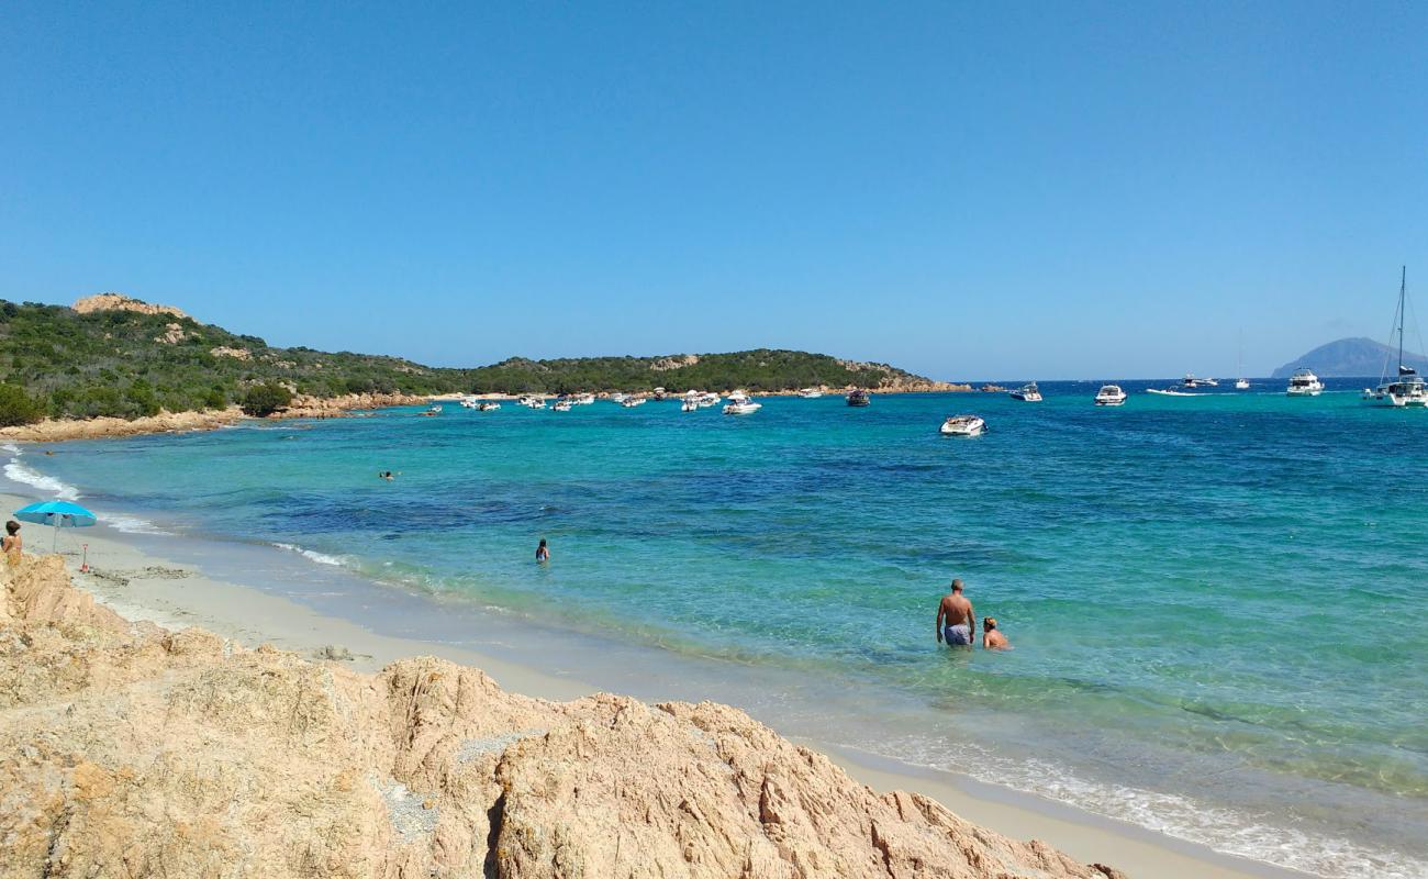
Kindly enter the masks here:
<path id="1" fill-rule="evenodd" d="M 173 306 L 101 293 L 74 307 L 0 300 L 0 426 L 160 412 L 321 413 L 454 393 L 951 390 L 885 363 L 768 350 L 661 357 L 511 357 L 450 369 L 401 357 L 273 347 Z"/>

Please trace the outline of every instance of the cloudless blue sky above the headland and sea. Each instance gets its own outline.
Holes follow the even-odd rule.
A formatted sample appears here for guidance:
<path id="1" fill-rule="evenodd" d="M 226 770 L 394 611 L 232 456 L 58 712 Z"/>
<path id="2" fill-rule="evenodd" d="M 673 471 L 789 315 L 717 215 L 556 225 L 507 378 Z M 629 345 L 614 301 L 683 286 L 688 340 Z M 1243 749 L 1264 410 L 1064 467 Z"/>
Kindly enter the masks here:
<path id="1" fill-rule="evenodd" d="M 438 364 L 1227 376 L 1241 332 L 1255 374 L 1384 339 L 1402 263 L 1428 320 L 1428 3 L 0 10 L 11 300 Z"/>

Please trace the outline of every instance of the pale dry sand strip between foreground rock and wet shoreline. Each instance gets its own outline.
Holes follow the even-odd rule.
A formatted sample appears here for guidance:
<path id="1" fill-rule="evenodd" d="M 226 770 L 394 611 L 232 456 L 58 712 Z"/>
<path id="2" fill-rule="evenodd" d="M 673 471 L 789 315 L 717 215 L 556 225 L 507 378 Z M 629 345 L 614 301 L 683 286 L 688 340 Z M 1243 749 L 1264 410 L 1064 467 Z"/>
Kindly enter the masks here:
<path id="1" fill-rule="evenodd" d="M 0 496 L 16 509 L 30 499 Z M 30 550 L 49 549 L 49 529 L 26 529 Z M 448 643 L 381 635 L 350 619 L 307 606 L 290 593 L 283 582 L 257 576 L 208 576 L 200 562 L 173 562 L 164 557 L 160 540 L 181 540 L 191 552 L 197 542 L 178 537 L 140 539 L 107 527 L 66 533 L 61 552 L 74 572 L 76 585 L 129 619 L 147 619 L 181 629 L 200 626 L 247 646 L 271 643 L 303 655 L 327 646 L 350 650 L 351 665 L 361 670 L 414 655 L 436 655 L 484 669 L 501 686 L 547 699 L 573 699 L 598 689 L 601 680 L 583 680 L 578 675 L 480 653 Z M 89 560 L 97 573 L 80 573 L 80 543 L 89 545 Z M 276 550 L 274 550 L 276 552 Z M 236 580 L 246 582 L 236 582 Z M 411 597 L 410 600 L 423 600 Z M 777 729 L 777 722 L 774 723 Z M 1102 819 L 1031 795 L 1022 795 L 965 776 L 931 769 L 915 769 L 864 753 L 834 748 L 825 742 L 804 740 L 844 766 L 858 780 L 878 789 L 917 790 L 942 802 L 962 818 L 1015 838 L 1042 839 L 1085 862 L 1114 865 L 1138 878 L 1294 878 L 1291 870 L 1224 856 L 1208 848 L 1180 842 L 1132 825 Z"/>

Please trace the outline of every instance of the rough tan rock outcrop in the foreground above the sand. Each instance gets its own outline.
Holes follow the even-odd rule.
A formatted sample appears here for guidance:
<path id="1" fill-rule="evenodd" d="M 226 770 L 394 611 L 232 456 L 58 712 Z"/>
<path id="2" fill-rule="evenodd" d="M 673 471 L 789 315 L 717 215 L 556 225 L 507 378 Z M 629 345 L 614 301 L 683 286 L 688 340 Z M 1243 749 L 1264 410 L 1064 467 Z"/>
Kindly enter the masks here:
<path id="1" fill-rule="evenodd" d="M 553 703 L 131 625 L 0 570 L 0 876 L 1082 878 L 727 706 Z"/>

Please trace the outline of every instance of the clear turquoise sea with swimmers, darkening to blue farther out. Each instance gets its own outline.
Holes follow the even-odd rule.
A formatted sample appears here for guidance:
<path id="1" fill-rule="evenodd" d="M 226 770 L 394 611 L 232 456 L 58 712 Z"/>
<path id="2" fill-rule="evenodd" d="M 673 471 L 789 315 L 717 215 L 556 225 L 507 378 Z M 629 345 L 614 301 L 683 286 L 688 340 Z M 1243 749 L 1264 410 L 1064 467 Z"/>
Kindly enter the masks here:
<path id="1" fill-rule="evenodd" d="M 714 675 L 807 679 L 798 733 L 1324 876 L 1428 875 L 1428 412 L 1144 383 L 1098 409 L 1097 386 L 743 419 L 447 406 L 7 472 Z M 957 412 L 988 433 L 940 436 Z M 952 576 L 1014 652 L 938 649 Z"/>

